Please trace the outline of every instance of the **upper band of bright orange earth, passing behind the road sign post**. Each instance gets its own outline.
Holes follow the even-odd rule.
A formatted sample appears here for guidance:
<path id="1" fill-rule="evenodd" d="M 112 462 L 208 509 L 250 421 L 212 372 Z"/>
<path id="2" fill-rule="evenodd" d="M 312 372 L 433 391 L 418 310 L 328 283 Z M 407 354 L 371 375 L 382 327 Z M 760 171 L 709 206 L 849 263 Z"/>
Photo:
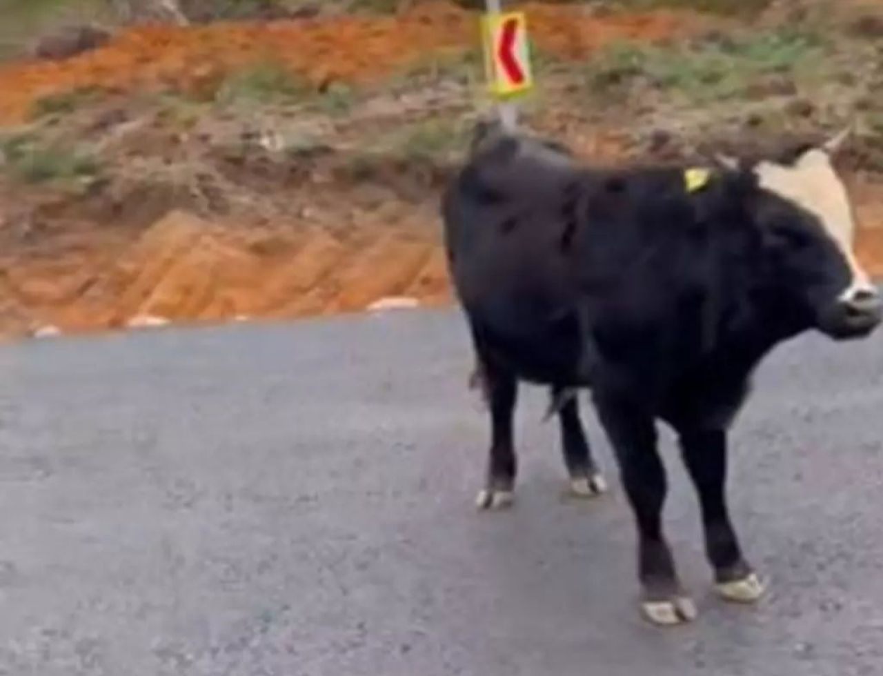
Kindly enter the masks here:
<path id="1" fill-rule="evenodd" d="M 517 5 L 528 12 L 540 49 L 580 58 L 624 38 L 658 40 L 695 33 L 708 21 L 685 11 L 594 17 L 577 6 Z M 0 66 L 0 122 L 25 119 L 33 102 L 76 87 L 111 91 L 213 90 L 225 73 L 272 58 L 312 81 L 377 82 L 442 49 L 479 44 L 478 15 L 436 0 L 400 16 L 292 19 L 207 26 L 137 26 L 100 49 L 59 61 Z"/>

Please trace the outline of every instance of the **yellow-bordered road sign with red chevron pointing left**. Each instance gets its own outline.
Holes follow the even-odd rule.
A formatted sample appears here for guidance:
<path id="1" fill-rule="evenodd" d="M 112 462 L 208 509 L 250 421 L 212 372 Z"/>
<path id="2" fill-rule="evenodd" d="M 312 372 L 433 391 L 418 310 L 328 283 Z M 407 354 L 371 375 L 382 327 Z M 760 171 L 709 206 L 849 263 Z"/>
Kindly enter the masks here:
<path id="1" fill-rule="evenodd" d="M 490 11 L 482 18 L 485 66 L 491 93 L 510 99 L 533 86 L 527 20 L 520 11 Z"/>

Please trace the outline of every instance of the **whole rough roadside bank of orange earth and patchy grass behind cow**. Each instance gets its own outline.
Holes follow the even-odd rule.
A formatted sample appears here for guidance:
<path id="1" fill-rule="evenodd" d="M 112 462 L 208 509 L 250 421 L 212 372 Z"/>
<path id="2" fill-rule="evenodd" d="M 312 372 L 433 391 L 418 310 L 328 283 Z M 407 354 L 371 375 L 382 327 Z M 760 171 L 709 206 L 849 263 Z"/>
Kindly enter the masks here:
<path id="1" fill-rule="evenodd" d="M 853 121 L 842 169 L 883 274 L 883 4 L 631 4 L 522 5 L 525 125 L 618 160 Z M 488 114 L 476 21 L 148 25 L 0 63 L 0 336 L 449 302 L 437 198 Z"/>

